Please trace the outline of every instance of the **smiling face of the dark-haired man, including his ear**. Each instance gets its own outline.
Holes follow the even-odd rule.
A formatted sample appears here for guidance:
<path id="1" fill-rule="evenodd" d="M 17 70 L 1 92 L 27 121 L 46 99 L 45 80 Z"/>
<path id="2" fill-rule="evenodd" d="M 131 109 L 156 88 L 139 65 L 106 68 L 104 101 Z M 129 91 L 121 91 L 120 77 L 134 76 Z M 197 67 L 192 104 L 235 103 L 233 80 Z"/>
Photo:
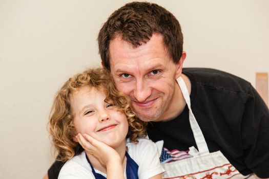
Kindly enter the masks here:
<path id="1" fill-rule="evenodd" d="M 153 34 L 138 48 L 116 37 L 110 42 L 109 52 L 116 85 L 131 98 L 141 120 L 161 121 L 178 112 L 174 106 L 179 99 L 174 94 L 183 60 L 173 62 L 161 35 Z"/>

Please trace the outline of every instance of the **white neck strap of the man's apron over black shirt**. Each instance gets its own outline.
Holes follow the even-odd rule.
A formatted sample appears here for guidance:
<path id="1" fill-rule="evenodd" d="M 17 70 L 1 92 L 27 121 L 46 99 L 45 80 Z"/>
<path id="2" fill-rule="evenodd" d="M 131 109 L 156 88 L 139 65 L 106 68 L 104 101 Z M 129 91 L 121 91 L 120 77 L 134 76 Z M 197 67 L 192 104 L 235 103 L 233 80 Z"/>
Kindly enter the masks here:
<path id="1" fill-rule="evenodd" d="M 193 115 L 193 111 L 191 109 L 191 99 L 190 99 L 188 88 L 187 88 L 187 86 L 186 86 L 186 84 L 181 76 L 177 79 L 177 82 L 178 82 L 178 85 L 181 89 L 183 97 L 184 97 L 184 99 L 188 105 L 188 108 L 189 108 L 190 124 L 191 124 L 193 136 L 194 136 L 197 148 L 199 150 L 199 154 L 200 155 L 208 154 L 209 153 L 208 145 L 205 142 L 202 130 L 200 129 L 200 127 L 199 127 L 199 125 L 198 125 L 198 123 Z"/>

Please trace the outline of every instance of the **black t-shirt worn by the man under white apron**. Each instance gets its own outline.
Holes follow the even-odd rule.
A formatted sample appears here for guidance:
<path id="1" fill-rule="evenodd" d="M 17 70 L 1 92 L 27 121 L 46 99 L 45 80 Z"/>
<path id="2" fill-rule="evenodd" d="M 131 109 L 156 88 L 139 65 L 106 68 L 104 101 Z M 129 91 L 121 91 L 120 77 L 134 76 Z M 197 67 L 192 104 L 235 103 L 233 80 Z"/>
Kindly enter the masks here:
<path id="1" fill-rule="evenodd" d="M 269 177 L 269 110 L 252 85 L 213 69 L 185 68 L 183 74 L 191 80 L 191 107 L 210 152 L 220 150 L 244 175 Z M 188 107 L 175 119 L 149 123 L 148 135 L 169 150 L 197 148 Z M 62 165 L 51 166 L 50 179 Z"/>

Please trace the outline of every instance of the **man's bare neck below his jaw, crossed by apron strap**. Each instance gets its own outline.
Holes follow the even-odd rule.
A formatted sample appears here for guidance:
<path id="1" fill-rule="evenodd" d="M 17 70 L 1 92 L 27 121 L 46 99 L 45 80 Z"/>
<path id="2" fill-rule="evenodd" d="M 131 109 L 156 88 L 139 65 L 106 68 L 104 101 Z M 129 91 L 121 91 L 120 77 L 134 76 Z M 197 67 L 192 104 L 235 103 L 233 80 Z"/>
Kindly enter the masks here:
<path id="1" fill-rule="evenodd" d="M 181 74 L 182 79 L 184 80 L 185 84 L 187 85 L 189 95 L 191 94 L 191 81 L 190 79 L 184 75 Z M 186 101 L 183 97 L 183 94 L 181 92 L 181 89 L 176 82 L 175 84 L 175 93 L 171 100 L 171 103 L 168 107 L 168 110 L 164 112 L 164 114 L 161 116 L 160 121 L 169 121 L 174 118 L 176 118 L 178 115 L 180 115 L 185 108 Z"/>

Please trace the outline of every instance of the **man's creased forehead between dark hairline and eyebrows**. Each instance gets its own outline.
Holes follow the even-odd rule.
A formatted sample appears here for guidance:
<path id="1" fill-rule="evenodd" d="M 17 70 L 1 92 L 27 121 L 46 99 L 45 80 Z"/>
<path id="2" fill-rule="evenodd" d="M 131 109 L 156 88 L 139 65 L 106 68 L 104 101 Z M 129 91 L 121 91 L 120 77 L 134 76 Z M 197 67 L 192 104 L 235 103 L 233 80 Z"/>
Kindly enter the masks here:
<path id="1" fill-rule="evenodd" d="M 170 60 L 163 45 L 162 36 L 154 34 L 150 41 L 139 47 L 133 47 L 119 36 L 110 43 L 110 67 L 112 73 L 156 70 Z M 172 59 L 171 59 L 172 60 Z"/>

